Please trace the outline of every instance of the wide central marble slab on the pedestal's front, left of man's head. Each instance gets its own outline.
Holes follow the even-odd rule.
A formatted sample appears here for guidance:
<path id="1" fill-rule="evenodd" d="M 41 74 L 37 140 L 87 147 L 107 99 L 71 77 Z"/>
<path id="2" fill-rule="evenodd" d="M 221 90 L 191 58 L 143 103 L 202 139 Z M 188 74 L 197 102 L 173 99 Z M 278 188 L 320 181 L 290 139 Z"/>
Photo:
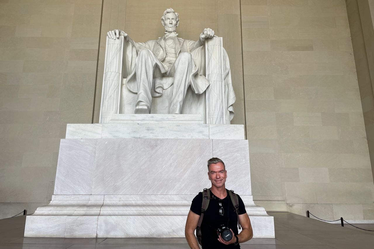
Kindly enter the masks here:
<path id="1" fill-rule="evenodd" d="M 195 194 L 211 157 L 210 139 L 99 139 L 92 194 Z"/>

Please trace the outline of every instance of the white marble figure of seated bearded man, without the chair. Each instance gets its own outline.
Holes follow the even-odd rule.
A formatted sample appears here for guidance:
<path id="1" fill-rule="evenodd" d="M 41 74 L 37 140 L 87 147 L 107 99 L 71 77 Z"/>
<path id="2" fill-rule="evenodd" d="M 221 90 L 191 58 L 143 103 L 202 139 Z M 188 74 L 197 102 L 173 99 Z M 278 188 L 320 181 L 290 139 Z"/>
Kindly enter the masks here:
<path id="1" fill-rule="evenodd" d="M 175 31 L 179 17 L 171 8 L 165 10 L 161 22 L 165 34 L 158 40 L 145 43 L 134 42 L 121 30 L 108 32 L 110 39 L 123 36 L 127 42 L 126 67 L 129 76 L 126 86 L 131 92 L 137 93 L 135 113 L 150 113 L 152 97 L 161 96 L 163 90 L 172 86 L 169 114 L 181 114 L 188 87 L 201 94 L 209 86 L 201 71 L 205 68 L 203 45 L 205 39 L 214 36 L 214 31 L 205 28 L 196 42 L 178 37 Z"/>

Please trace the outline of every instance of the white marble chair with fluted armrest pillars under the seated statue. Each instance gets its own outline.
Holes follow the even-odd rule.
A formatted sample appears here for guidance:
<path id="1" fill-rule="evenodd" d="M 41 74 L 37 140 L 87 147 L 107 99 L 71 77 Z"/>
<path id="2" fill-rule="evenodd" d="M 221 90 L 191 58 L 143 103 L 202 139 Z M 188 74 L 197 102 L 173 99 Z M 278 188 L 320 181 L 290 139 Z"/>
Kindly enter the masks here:
<path id="1" fill-rule="evenodd" d="M 131 92 L 126 87 L 126 77 L 129 72 L 126 69 L 124 51 L 122 36 L 116 40 L 107 37 L 100 123 L 110 122 L 113 114 L 134 114 L 137 93 Z M 205 41 L 205 64 L 210 86 L 200 95 L 188 87 L 181 114 L 201 114 L 204 123 L 230 124 L 229 111 L 225 108 L 227 101 L 224 94 L 222 37 L 213 37 Z M 162 77 L 153 80 L 174 79 Z M 151 114 L 168 114 L 172 87 L 173 85 L 163 90 L 162 96 L 152 98 Z"/>

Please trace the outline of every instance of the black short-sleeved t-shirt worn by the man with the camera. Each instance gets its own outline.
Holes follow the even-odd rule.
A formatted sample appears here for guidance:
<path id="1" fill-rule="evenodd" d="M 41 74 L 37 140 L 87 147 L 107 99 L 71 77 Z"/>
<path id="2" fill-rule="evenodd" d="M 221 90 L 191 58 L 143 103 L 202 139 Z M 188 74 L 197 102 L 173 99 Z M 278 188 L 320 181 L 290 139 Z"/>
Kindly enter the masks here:
<path id="1" fill-rule="evenodd" d="M 229 190 L 230 191 L 230 190 Z M 245 206 L 237 194 L 239 199 L 239 215 L 246 213 Z M 220 206 L 218 202 L 222 203 L 223 206 L 223 216 L 219 214 Z M 203 203 L 203 193 L 200 192 L 197 196 L 194 197 L 191 204 L 191 211 L 196 213 L 197 215 L 201 215 L 201 205 Z M 230 208 L 229 208 L 230 205 Z M 230 219 L 228 219 L 228 217 Z M 227 196 L 221 200 L 217 196 L 215 196 L 211 192 L 211 199 L 209 200 L 208 209 L 205 210 L 203 221 L 201 223 L 201 243 L 203 249 L 229 249 L 229 248 L 240 248 L 239 245 L 234 246 L 234 244 L 224 245 L 218 241 L 218 235 L 216 229 L 220 227 L 220 225 L 225 225 L 231 230 L 233 230 L 234 234 L 238 234 L 237 230 L 237 216 L 235 213 L 234 205 L 231 202 L 230 196 L 227 193 Z"/>

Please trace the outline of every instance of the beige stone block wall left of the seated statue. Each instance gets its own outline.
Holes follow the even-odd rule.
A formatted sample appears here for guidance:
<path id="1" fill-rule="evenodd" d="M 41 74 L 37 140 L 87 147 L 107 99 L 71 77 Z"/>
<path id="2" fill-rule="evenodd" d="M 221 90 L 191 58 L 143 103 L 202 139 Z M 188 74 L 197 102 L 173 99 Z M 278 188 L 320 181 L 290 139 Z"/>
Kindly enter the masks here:
<path id="1" fill-rule="evenodd" d="M 91 123 L 101 0 L 0 2 L 0 218 L 53 193 L 67 123 Z"/>

